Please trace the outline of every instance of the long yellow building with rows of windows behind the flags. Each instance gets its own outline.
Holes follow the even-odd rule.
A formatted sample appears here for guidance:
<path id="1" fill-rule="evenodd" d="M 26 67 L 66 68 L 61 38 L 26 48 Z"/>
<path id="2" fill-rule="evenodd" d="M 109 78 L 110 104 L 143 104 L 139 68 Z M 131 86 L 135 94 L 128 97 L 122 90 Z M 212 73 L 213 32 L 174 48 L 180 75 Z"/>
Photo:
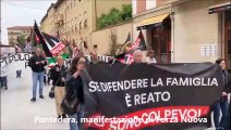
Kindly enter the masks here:
<path id="1" fill-rule="evenodd" d="M 97 17 L 108 13 L 112 8 L 120 10 L 123 4 L 131 2 L 131 0 L 58 0 L 50 5 L 41 20 L 41 30 L 50 35 L 59 32 L 62 40 L 77 44 L 87 54 L 97 47 L 97 41 L 92 40 L 92 32 L 97 29 Z M 88 49 L 84 48 L 83 42 Z"/>

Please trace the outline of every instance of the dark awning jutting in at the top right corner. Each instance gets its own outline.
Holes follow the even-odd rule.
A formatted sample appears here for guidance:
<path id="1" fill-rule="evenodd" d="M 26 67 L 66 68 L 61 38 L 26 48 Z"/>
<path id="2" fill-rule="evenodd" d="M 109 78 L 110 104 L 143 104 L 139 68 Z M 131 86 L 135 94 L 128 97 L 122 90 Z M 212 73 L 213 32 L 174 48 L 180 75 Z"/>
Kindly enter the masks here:
<path id="1" fill-rule="evenodd" d="M 231 2 L 230 1 L 222 3 L 222 4 L 212 5 L 208 9 L 209 14 L 218 13 L 218 12 L 222 12 L 222 11 L 231 11 Z"/>

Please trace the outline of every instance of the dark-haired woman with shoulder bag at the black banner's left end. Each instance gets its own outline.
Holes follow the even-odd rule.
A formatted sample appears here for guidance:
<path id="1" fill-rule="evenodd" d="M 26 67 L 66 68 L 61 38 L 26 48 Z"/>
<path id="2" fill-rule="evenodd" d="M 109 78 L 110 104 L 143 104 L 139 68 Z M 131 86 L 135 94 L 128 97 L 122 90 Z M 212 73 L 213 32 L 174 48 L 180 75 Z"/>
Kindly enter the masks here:
<path id="1" fill-rule="evenodd" d="M 81 73 L 84 69 L 86 60 L 82 57 L 74 57 L 70 72 L 66 74 L 66 100 L 72 101 L 73 98 L 77 98 L 80 101 L 78 107 L 76 107 L 75 114 L 69 114 L 69 118 L 75 118 L 77 120 L 77 126 L 75 122 L 70 122 L 71 130 L 83 130 L 83 125 L 81 123 L 81 118 L 84 117 L 85 105 L 84 105 L 84 91 L 81 78 Z"/>

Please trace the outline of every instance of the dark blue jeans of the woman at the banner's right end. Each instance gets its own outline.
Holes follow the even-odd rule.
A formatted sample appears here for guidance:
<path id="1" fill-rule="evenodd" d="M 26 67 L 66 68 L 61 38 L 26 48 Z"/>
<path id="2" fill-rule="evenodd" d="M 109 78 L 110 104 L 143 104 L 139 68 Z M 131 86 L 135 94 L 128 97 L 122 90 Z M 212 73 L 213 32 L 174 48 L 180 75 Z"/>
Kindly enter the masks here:
<path id="1" fill-rule="evenodd" d="M 221 110 L 221 119 L 220 118 L 220 110 Z M 215 122 L 215 127 L 216 129 L 220 129 L 223 130 L 224 127 L 227 127 L 227 121 L 228 121 L 228 117 L 229 117 L 229 104 L 228 104 L 228 100 L 224 99 L 222 101 L 218 101 L 214 104 L 214 122 Z"/>

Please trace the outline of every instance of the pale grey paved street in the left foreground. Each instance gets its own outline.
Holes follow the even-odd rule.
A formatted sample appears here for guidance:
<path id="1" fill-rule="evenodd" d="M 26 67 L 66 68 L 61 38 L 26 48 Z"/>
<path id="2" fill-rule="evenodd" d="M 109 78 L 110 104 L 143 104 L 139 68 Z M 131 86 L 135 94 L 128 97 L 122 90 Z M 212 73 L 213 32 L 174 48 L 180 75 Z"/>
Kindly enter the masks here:
<path id="1" fill-rule="evenodd" d="M 31 69 L 23 70 L 22 78 L 15 78 L 11 74 L 9 79 L 9 89 L 1 90 L 1 130 L 9 129 L 69 129 L 68 123 L 39 123 L 35 122 L 35 116 L 57 117 L 54 100 L 48 96 L 50 87 L 45 87 L 45 99 L 37 99 L 31 103 L 32 98 L 32 78 Z"/>

